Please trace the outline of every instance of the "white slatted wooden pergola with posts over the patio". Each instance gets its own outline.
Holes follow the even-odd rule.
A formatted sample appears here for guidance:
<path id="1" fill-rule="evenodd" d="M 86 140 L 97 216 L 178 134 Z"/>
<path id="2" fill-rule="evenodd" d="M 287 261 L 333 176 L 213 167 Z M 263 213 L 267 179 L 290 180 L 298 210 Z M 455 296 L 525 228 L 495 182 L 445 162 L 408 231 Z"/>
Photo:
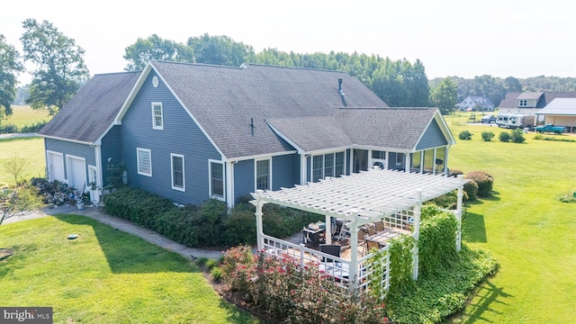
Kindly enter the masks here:
<path id="1" fill-rule="evenodd" d="M 402 211 L 412 211 L 414 218 L 413 238 L 418 242 L 420 207 L 446 193 L 457 193 L 455 218 L 458 221 L 456 249 L 460 250 L 462 233 L 463 187 L 467 182 L 462 175 L 429 175 L 386 169 L 372 169 L 352 175 L 329 177 L 319 183 L 296 185 L 279 191 L 257 190 L 251 201 L 256 207 L 257 245 L 264 247 L 262 206 L 265 203 L 311 211 L 325 215 L 326 233 L 330 233 L 330 218 L 349 221 L 351 261 L 350 278 L 356 277 L 358 268 L 358 230 L 365 224 L 393 217 Z M 326 240 L 330 244 L 330 236 Z M 418 278 L 418 244 L 414 250 L 413 277 Z"/>

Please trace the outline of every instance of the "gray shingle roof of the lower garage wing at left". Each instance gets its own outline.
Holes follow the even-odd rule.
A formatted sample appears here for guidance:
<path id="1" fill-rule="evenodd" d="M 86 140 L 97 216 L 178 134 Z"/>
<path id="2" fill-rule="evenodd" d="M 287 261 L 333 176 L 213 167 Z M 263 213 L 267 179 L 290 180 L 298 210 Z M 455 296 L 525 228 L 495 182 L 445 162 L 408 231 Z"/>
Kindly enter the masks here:
<path id="1" fill-rule="evenodd" d="M 139 75 L 123 72 L 93 76 L 39 134 L 94 143 L 112 125 Z"/>

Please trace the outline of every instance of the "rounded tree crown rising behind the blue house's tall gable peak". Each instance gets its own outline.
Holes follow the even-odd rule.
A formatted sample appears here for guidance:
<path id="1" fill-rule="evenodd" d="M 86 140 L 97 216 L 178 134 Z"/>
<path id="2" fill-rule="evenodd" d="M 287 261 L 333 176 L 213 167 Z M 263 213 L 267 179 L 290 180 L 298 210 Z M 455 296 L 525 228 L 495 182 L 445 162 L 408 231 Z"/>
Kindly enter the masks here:
<path id="1" fill-rule="evenodd" d="M 146 40 L 139 38 L 125 49 L 124 58 L 128 61 L 127 71 L 139 71 L 151 59 L 173 62 L 193 62 L 193 49 L 174 40 L 163 40 L 153 34 Z"/>

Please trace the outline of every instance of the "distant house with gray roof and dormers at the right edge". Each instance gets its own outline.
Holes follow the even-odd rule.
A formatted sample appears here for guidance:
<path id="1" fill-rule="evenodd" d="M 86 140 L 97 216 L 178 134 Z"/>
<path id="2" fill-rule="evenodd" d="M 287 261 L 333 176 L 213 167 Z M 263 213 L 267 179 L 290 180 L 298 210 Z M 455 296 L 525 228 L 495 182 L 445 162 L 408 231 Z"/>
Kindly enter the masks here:
<path id="1" fill-rule="evenodd" d="M 524 114 L 537 116 L 536 123 L 544 122 L 544 115 L 539 114 L 555 98 L 576 98 L 576 92 L 530 92 L 509 93 L 500 102 L 500 114 Z"/>

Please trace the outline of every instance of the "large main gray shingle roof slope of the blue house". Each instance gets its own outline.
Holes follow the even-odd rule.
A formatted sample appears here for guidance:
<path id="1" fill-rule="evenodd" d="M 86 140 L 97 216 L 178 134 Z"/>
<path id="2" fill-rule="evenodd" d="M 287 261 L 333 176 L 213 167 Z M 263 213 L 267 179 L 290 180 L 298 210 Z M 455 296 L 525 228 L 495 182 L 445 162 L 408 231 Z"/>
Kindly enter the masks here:
<path id="1" fill-rule="evenodd" d="M 152 62 L 152 67 L 227 158 L 291 149 L 266 124 L 266 119 L 293 118 L 293 126 L 298 129 L 310 127 L 320 131 L 320 120 L 334 115 L 338 108 L 388 107 L 356 77 L 344 72 L 161 61 Z M 340 78 L 343 96 L 338 94 Z M 254 128 L 250 126 L 252 121 Z M 327 128 L 324 131 L 334 130 Z M 341 139 L 341 134 L 338 136 Z"/>

